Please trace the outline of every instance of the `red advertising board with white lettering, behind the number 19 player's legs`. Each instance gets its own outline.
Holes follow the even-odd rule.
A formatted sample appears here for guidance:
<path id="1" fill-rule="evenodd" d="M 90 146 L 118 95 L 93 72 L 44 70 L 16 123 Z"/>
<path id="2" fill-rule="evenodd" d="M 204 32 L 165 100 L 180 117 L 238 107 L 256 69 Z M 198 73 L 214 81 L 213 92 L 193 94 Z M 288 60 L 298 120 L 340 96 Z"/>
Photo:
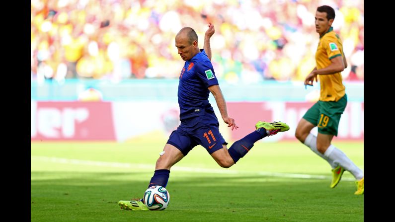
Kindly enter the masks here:
<path id="1" fill-rule="evenodd" d="M 239 140 L 255 130 L 258 120 L 287 123 L 290 130 L 276 135 L 276 139 L 295 140 L 295 130 L 300 119 L 313 105 L 314 102 L 228 102 L 228 113 L 239 127 L 231 132 L 232 140 Z M 340 119 L 336 140 L 363 140 L 363 117 L 364 103 L 348 102 Z"/>

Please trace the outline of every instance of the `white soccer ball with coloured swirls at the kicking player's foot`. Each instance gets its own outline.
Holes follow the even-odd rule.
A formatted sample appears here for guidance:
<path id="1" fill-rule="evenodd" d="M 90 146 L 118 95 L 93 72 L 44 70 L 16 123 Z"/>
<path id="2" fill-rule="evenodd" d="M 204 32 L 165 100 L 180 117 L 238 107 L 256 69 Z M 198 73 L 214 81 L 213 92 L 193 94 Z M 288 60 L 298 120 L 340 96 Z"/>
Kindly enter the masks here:
<path id="1" fill-rule="evenodd" d="M 162 211 L 170 201 L 169 192 L 162 186 L 152 186 L 144 193 L 144 204 L 151 211 Z"/>

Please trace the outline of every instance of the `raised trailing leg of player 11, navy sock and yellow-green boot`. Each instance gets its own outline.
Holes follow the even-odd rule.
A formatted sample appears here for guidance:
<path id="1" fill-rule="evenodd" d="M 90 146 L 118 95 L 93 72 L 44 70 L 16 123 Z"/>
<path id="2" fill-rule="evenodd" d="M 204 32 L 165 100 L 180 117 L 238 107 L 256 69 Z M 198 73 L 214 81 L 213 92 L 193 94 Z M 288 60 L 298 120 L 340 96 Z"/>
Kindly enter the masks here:
<path id="1" fill-rule="evenodd" d="M 247 154 L 258 140 L 289 130 L 289 126 L 281 122 L 259 121 L 255 127 L 257 129 L 254 132 L 236 141 L 229 149 L 227 149 L 226 144 L 223 144 L 222 148 L 213 150 L 213 152 L 209 151 L 209 153 L 221 167 L 229 168 Z"/>

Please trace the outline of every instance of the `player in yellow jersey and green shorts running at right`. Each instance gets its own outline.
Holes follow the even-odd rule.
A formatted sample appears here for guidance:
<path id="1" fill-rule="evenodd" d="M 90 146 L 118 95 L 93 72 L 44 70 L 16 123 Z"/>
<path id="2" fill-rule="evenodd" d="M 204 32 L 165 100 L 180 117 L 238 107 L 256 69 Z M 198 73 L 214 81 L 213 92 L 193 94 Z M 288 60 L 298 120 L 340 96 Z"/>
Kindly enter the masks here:
<path id="1" fill-rule="evenodd" d="M 332 7 L 322 5 L 316 11 L 316 32 L 319 43 L 316 51 L 316 67 L 306 77 L 305 85 L 313 85 L 319 75 L 320 97 L 299 121 L 295 137 L 325 159 L 332 167 L 331 188 L 340 181 L 344 170 L 348 170 L 356 179 L 357 191 L 364 193 L 364 173 L 340 149 L 331 145 L 333 136 L 337 136 L 340 116 L 347 105 L 347 95 L 342 83 L 342 72 L 347 67 L 342 42 L 331 26 L 335 18 Z M 318 127 L 314 136 L 310 131 Z"/>

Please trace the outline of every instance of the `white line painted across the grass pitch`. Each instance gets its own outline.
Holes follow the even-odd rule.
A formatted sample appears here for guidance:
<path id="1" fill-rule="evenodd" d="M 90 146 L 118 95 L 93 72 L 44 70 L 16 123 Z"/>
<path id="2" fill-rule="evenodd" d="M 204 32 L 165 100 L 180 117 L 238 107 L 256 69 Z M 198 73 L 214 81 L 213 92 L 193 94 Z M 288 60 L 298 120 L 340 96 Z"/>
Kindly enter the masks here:
<path id="1" fill-rule="evenodd" d="M 89 166 L 108 166 L 108 167 L 120 167 L 120 168 L 139 168 L 139 169 L 155 169 L 154 164 L 142 164 L 142 163 L 120 163 L 120 162 L 103 162 L 103 161 L 92 161 L 82 159 L 67 159 L 59 157 L 47 157 L 47 156 L 30 156 L 32 160 L 39 160 L 43 162 L 55 162 L 55 163 L 66 163 L 75 165 L 89 165 Z M 310 175 L 310 174 L 297 174 L 297 173 L 276 173 L 276 172 L 263 172 L 263 171 L 241 171 L 241 170 L 229 170 L 229 169 L 208 169 L 198 167 L 185 167 L 185 166 L 173 166 L 171 170 L 183 171 L 183 172 L 198 172 L 198 173 L 219 173 L 219 174 L 258 174 L 262 176 L 272 177 L 289 177 L 289 178 L 300 178 L 300 179 L 321 179 L 331 180 L 330 176 L 323 175 Z M 353 178 L 342 178 L 345 181 L 355 181 Z"/>

